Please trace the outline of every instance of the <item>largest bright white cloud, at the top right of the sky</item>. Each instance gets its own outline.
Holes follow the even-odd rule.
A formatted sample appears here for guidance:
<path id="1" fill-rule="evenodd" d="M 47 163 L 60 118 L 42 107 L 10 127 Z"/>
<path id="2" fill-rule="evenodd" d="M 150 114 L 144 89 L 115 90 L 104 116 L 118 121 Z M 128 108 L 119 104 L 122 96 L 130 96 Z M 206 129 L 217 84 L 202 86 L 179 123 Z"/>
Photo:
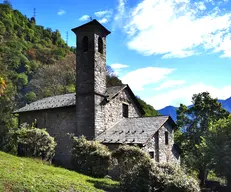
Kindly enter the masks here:
<path id="1" fill-rule="evenodd" d="M 127 45 L 144 55 L 182 58 L 200 54 L 197 48 L 203 48 L 231 57 L 231 12 L 221 11 L 222 3 L 225 2 L 143 0 L 126 10 L 125 1 L 119 0 L 115 20 L 129 14 L 124 27 L 129 37 Z"/>

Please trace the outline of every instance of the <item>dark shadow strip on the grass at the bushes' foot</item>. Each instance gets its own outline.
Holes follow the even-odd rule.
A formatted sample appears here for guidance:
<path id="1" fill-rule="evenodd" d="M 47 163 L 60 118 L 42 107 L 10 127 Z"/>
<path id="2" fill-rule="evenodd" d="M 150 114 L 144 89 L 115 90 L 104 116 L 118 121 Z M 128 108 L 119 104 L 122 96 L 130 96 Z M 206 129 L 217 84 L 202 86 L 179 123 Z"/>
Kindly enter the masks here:
<path id="1" fill-rule="evenodd" d="M 93 179 L 88 179 L 87 182 L 93 183 L 94 187 L 97 189 L 102 189 L 107 192 L 120 192 L 119 184 L 109 184 L 103 181 L 97 181 Z"/>

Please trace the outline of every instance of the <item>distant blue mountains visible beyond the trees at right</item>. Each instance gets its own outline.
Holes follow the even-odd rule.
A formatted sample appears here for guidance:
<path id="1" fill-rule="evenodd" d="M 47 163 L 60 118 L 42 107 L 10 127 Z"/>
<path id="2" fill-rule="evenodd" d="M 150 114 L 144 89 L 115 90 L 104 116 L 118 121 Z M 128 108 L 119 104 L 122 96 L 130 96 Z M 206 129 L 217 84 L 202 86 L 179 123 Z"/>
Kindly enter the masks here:
<path id="1" fill-rule="evenodd" d="M 219 99 L 218 102 L 221 103 L 221 105 L 222 105 L 222 107 L 223 107 L 224 109 L 226 109 L 228 112 L 231 113 L 231 97 L 228 98 L 228 99 L 226 99 L 226 100 L 221 100 L 221 99 Z M 188 107 L 191 107 L 191 106 L 192 106 L 192 105 L 189 105 Z M 164 107 L 163 109 L 160 109 L 160 110 L 158 110 L 158 111 L 159 111 L 159 113 L 160 113 L 161 115 L 169 115 L 169 116 L 172 117 L 172 119 L 173 119 L 174 121 L 176 121 L 176 117 L 177 117 L 176 111 L 177 111 L 177 109 L 178 109 L 178 107 L 167 106 L 167 107 Z"/>

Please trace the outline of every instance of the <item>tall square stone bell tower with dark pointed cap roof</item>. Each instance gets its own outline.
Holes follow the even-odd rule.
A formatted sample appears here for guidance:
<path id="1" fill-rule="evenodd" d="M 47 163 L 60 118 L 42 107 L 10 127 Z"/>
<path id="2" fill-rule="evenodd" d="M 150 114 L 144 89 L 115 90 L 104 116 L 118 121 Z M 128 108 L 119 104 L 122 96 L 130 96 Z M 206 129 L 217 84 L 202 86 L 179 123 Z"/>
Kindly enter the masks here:
<path id="1" fill-rule="evenodd" d="M 72 29 L 76 34 L 77 135 L 94 139 L 105 129 L 106 36 L 97 20 Z"/>

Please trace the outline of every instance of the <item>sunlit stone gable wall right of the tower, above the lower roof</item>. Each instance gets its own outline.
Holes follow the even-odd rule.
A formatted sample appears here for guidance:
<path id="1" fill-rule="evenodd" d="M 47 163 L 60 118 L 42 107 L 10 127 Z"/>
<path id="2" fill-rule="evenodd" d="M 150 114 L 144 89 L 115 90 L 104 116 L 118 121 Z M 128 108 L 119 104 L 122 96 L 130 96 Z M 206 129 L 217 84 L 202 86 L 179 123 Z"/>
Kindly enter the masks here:
<path id="1" fill-rule="evenodd" d="M 129 92 L 124 89 L 105 105 L 105 129 L 111 128 L 123 119 L 123 103 L 128 105 L 128 117 L 141 117 L 141 113 L 134 104 Z"/>

